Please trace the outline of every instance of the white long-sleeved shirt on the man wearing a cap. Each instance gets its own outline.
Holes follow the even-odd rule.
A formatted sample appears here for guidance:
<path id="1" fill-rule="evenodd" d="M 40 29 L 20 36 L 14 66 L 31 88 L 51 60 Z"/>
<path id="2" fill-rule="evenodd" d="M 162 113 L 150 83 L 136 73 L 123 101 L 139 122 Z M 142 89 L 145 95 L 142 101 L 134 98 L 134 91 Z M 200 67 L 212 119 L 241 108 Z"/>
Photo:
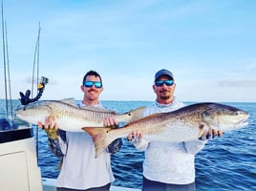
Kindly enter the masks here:
<path id="1" fill-rule="evenodd" d="M 155 113 L 171 112 L 185 106 L 174 98 L 170 104 L 160 104 L 157 101 L 148 107 L 144 116 Z M 135 146 L 145 151 L 143 161 L 143 176 L 148 180 L 164 183 L 188 184 L 195 181 L 195 154 L 203 149 L 205 140 L 186 142 L 147 142 L 140 138 Z"/>

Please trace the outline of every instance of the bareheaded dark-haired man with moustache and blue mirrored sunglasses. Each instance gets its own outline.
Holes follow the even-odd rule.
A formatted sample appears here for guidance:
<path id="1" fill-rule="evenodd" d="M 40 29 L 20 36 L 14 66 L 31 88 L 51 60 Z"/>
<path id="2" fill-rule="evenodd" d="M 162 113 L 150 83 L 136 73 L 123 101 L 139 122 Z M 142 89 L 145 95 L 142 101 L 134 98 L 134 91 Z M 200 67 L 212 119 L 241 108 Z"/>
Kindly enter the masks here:
<path id="1" fill-rule="evenodd" d="M 103 86 L 99 74 L 95 71 L 85 74 L 80 89 L 83 92 L 83 99 L 78 104 L 79 107 L 93 105 L 102 108 L 99 95 L 103 91 Z M 117 121 L 115 118 L 107 117 L 104 125 L 117 125 Z M 114 140 L 105 152 L 95 158 L 95 145 L 87 132 L 57 130 L 57 124 L 50 118 L 44 125 L 39 122 L 38 126 L 46 130 L 53 154 L 56 157 L 63 157 L 57 179 L 57 191 L 109 191 L 111 182 L 114 181 L 110 154 L 119 150 L 121 138 Z"/>

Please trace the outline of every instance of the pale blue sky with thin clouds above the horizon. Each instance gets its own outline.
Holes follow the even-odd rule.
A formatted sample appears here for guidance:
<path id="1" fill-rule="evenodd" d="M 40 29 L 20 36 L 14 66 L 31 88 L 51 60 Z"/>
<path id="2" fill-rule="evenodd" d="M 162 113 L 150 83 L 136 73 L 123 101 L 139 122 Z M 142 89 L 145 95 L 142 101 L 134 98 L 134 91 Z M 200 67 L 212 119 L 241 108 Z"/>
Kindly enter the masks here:
<path id="1" fill-rule="evenodd" d="M 83 75 L 95 70 L 103 78 L 101 100 L 155 100 L 154 75 L 164 68 L 173 72 L 181 101 L 256 102 L 256 1 L 6 0 L 3 5 L 12 98 L 32 89 L 40 23 L 34 70 L 49 78 L 42 99 L 82 99 Z M 4 64 L 0 69 L 5 98 Z"/>

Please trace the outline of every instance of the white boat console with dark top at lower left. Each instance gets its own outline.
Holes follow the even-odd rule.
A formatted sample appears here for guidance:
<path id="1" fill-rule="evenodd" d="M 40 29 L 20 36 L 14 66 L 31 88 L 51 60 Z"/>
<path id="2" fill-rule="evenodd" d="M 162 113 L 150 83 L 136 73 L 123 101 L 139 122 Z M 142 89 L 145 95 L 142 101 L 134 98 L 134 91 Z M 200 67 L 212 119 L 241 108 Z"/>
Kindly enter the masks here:
<path id="1" fill-rule="evenodd" d="M 9 191 L 42 191 L 32 128 L 0 131 L 0 185 Z"/>

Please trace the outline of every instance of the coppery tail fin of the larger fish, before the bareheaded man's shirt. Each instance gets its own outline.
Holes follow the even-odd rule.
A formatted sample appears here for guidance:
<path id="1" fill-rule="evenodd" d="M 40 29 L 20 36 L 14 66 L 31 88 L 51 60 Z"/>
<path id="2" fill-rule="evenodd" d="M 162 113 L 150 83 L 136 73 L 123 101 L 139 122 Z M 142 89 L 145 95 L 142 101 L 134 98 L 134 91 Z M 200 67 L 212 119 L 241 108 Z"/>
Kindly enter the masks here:
<path id="1" fill-rule="evenodd" d="M 107 148 L 107 146 L 114 140 L 108 134 L 112 128 L 96 128 L 96 127 L 83 127 L 84 131 L 91 135 L 95 143 L 96 158 Z"/>

